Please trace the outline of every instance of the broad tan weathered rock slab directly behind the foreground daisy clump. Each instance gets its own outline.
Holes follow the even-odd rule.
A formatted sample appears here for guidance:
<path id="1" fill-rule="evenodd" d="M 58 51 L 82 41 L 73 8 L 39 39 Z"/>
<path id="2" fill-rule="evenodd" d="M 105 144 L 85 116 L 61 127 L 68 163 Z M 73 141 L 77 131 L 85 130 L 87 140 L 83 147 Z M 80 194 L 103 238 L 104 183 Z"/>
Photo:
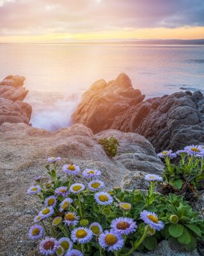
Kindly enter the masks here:
<path id="1" fill-rule="evenodd" d="M 99 137 L 111 134 L 120 141 L 120 156 L 115 159 L 106 156 L 102 146 L 98 144 Z M 4 123 L 0 126 L 0 141 L 0 255 L 5 255 L 6 244 L 6 256 L 40 255 L 38 243 L 29 240 L 27 231 L 34 216 L 40 211 L 41 204 L 33 196 L 28 196 L 26 191 L 33 185 L 33 177 L 36 175 L 42 175 L 43 182 L 48 182 L 44 167 L 47 157 L 62 158 L 59 167 L 61 175 L 61 166 L 71 161 L 82 170 L 98 168 L 103 173 L 102 179 L 108 188 L 122 186 L 122 179 L 128 173 L 142 173 L 140 181 L 143 180 L 144 173 L 152 172 L 152 161 L 157 163 L 155 173 L 161 172 L 163 166 L 152 145 L 142 136 L 119 131 L 105 131 L 94 135 L 91 129 L 79 124 L 52 133 L 26 124 Z M 131 163 L 127 150 L 131 152 L 129 154 L 136 154 L 138 163 Z M 79 179 L 80 177 L 76 178 Z M 137 183 L 141 183 L 139 179 Z M 130 186 L 133 188 L 133 182 Z"/>

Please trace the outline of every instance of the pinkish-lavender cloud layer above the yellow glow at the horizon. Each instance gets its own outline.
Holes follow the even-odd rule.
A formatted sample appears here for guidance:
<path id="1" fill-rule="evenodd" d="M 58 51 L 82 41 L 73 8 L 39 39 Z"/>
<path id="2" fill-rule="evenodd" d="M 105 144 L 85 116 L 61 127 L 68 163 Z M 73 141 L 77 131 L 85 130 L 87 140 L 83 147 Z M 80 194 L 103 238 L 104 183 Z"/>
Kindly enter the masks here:
<path id="1" fill-rule="evenodd" d="M 0 0 L 0 35 L 204 26 L 203 0 Z"/>

